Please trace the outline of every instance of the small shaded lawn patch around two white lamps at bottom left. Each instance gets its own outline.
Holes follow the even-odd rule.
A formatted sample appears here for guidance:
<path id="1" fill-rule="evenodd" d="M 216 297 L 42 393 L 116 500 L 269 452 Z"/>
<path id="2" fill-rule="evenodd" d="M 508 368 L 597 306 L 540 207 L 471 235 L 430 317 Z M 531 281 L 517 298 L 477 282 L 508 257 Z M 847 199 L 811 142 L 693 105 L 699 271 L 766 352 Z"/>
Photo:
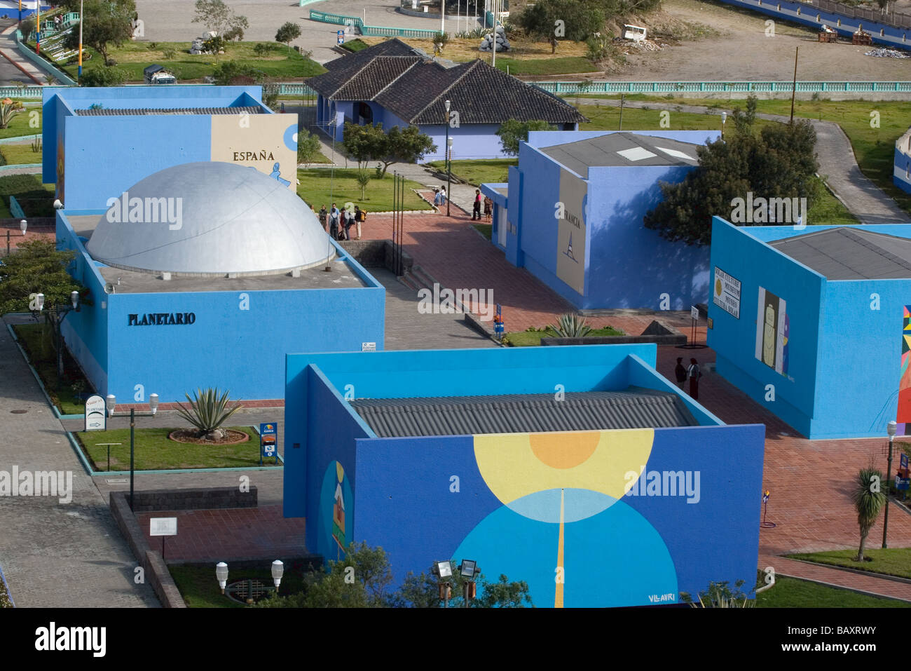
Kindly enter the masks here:
<path id="1" fill-rule="evenodd" d="M 271 563 L 263 562 L 262 569 L 231 570 L 228 564 L 228 583 L 244 578 L 259 580 L 271 585 Z M 245 608 L 244 604 L 231 601 L 226 594 L 221 594 L 218 581 L 215 580 L 215 566 L 169 566 L 168 570 L 184 602 L 190 608 Z M 288 596 L 296 594 L 303 588 L 304 567 L 285 563 L 284 575 L 281 576 L 279 594 Z"/>

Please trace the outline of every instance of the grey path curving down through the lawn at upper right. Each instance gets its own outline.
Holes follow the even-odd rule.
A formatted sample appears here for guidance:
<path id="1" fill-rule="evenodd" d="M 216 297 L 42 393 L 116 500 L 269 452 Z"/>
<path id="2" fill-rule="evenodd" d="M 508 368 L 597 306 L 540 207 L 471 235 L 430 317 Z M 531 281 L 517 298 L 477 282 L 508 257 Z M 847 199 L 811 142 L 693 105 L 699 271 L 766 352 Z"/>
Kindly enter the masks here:
<path id="1" fill-rule="evenodd" d="M 606 107 L 619 107 L 619 100 L 599 100 Z M 745 104 L 745 103 L 744 103 Z M 872 104 L 872 103 L 871 103 Z M 628 108 L 667 109 L 671 112 L 689 112 L 693 114 L 720 115 L 722 109 L 707 108 L 699 105 L 670 105 L 660 102 L 626 101 Z M 731 109 L 727 110 L 729 113 Z M 756 114 L 757 119 L 781 121 L 787 123 L 789 117 L 778 114 Z M 799 117 L 798 119 L 804 119 Z M 816 154 L 819 160 L 819 174 L 822 175 L 838 200 L 842 201 L 849 212 L 861 223 L 907 223 L 911 214 L 902 211 L 882 190 L 864 176 L 855 160 L 851 142 L 844 130 L 833 121 L 809 119 L 816 130 Z M 670 116 L 673 126 L 673 114 Z M 721 121 L 719 120 L 719 128 Z"/>

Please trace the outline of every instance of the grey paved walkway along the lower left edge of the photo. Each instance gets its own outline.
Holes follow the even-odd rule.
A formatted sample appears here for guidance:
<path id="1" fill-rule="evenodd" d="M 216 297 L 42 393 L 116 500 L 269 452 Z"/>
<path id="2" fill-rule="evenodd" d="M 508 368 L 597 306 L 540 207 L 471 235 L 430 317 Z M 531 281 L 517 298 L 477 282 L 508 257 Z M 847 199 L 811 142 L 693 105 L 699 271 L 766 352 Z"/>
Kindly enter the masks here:
<path id="1" fill-rule="evenodd" d="M 72 473 L 72 501 L 0 498 L 0 565 L 19 607 L 155 606 L 148 583 L 0 322 L 0 470 Z M 17 412 L 25 410 L 25 412 Z"/>

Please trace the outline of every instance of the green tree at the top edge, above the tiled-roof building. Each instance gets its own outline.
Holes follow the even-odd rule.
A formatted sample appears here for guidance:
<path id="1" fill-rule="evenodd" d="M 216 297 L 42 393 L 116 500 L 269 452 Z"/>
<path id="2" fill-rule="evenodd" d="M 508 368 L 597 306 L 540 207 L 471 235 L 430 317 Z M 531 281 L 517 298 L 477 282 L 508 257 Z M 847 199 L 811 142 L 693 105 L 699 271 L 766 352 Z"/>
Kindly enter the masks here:
<path id="1" fill-rule="evenodd" d="M 528 35 L 548 42 L 550 53 L 556 54 L 559 39 L 584 42 L 601 30 L 607 18 L 597 0 L 541 0 L 527 5 L 516 23 Z"/>

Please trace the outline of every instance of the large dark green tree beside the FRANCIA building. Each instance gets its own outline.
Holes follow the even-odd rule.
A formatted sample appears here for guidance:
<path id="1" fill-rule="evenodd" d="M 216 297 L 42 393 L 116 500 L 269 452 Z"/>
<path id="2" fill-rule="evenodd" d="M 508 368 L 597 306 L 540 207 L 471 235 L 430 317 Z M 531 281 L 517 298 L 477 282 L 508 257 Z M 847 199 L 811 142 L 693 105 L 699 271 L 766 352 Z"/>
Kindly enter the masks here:
<path id="1" fill-rule="evenodd" d="M 732 212 L 734 199 L 748 192 L 754 198 L 806 198 L 809 209 L 818 197 L 815 145 L 815 130 L 802 119 L 699 147 L 696 170 L 679 183 L 660 184 L 664 198 L 645 215 L 645 226 L 671 242 L 704 245 L 711 243 L 711 217 Z"/>

